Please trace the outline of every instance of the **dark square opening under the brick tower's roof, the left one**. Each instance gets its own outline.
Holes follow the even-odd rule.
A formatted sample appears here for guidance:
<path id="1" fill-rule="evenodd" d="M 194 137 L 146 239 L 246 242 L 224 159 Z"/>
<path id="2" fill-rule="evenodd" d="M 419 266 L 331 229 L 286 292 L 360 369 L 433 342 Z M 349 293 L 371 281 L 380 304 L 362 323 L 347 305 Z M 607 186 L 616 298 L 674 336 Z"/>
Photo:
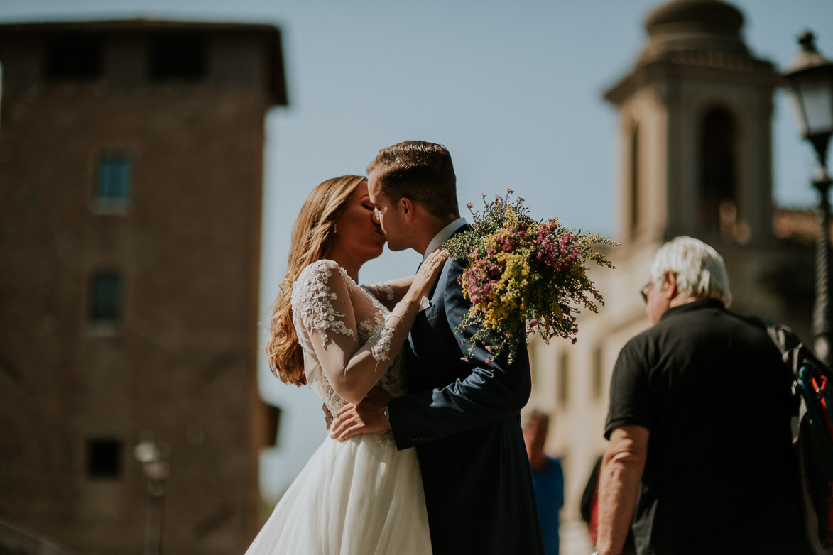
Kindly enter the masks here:
<path id="1" fill-rule="evenodd" d="M 72 32 L 47 38 L 44 77 L 50 81 L 101 77 L 102 44 L 102 37 L 95 33 Z"/>

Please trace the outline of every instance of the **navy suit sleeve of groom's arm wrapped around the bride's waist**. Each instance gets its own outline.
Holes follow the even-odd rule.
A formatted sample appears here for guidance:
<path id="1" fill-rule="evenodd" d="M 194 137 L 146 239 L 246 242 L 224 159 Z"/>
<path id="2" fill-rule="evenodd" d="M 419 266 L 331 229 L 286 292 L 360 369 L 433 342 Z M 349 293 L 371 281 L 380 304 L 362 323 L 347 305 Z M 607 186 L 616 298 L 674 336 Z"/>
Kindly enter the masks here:
<path id="1" fill-rule="evenodd" d="M 408 448 L 489 424 L 516 415 L 526 405 L 531 393 L 531 376 L 526 345 L 508 364 L 505 357 L 491 359 L 481 345 L 468 354 L 475 329 L 457 330 L 470 303 L 463 297 L 456 277 L 461 274 L 458 260 L 449 260 L 446 274 L 446 320 L 459 347 L 457 359 L 469 359 L 471 374 L 444 387 L 417 391 L 389 405 L 391 428 L 397 448 Z M 465 345 L 464 345 L 465 344 Z M 486 362 L 489 359 L 489 362 Z"/>

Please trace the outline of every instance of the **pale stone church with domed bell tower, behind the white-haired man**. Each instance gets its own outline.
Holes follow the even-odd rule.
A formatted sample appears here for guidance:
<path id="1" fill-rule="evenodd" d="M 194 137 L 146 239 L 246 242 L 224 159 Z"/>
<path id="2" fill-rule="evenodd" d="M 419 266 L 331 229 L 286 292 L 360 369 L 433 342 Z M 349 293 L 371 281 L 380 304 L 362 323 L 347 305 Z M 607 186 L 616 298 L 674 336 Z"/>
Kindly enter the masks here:
<path id="1" fill-rule="evenodd" d="M 614 239 L 621 245 L 608 253 L 618 267 L 592 270 L 606 305 L 581 316 L 575 345 L 530 347 L 535 385 L 528 406 L 554 418 L 548 445 L 563 458 L 567 478 L 562 553 L 589 553 L 579 500 L 606 448 L 616 356 L 649 325 L 639 291 L 662 243 L 677 235 L 705 240 L 726 260 L 732 310 L 811 337 L 812 238 L 809 245 L 796 240 L 789 225 L 773 232 L 789 216 L 772 202 L 779 75 L 746 47 L 742 25 L 741 12 L 725 2 L 667 2 L 646 18 L 648 38 L 634 67 L 606 92 L 618 114 Z"/>

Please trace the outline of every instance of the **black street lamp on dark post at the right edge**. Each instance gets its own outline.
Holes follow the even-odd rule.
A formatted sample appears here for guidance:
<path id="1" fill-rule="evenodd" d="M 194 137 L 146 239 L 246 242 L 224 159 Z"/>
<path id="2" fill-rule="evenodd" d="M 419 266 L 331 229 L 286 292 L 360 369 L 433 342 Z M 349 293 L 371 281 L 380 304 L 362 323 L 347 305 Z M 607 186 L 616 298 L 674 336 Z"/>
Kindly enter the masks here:
<path id="1" fill-rule="evenodd" d="M 833 134 L 833 62 L 826 60 L 816 50 L 816 37 L 803 32 L 798 38 L 801 53 L 796 57 L 784 80 L 798 127 L 807 141 L 816 149 L 819 173 L 812 184 L 819 191 L 820 228 L 816 241 L 816 302 L 813 307 L 813 336 L 816 356 L 825 363 L 831 362 L 830 318 L 830 201 L 827 192 L 831 178 L 827 175 L 827 146 Z"/>

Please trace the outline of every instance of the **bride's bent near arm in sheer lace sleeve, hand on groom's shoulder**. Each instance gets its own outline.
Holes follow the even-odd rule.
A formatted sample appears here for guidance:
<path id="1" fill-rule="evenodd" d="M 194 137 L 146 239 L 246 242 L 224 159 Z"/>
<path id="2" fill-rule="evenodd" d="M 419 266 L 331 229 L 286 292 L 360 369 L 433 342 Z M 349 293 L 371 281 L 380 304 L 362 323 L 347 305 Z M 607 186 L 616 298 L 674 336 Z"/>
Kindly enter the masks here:
<path id="1" fill-rule="evenodd" d="M 319 274 L 315 295 L 304 295 L 302 325 L 307 329 L 319 364 L 339 397 L 358 403 L 390 366 L 411 330 L 420 300 L 431 290 L 444 258 L 437 255 L 421 266 L 384 325 L 359 344 L 356 315 L 347 282 L 337 269 Z M 423 269 L 424 268 L 424 269 Z"/>

